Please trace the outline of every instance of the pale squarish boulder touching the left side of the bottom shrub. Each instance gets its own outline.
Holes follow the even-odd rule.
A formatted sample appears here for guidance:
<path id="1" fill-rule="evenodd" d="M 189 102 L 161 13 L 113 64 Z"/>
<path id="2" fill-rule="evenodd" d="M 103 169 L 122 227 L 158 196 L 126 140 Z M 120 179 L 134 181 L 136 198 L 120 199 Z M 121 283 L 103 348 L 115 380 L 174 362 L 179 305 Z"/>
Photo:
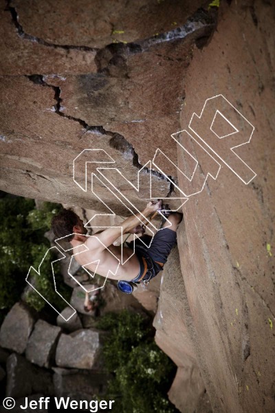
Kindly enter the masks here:
<path id="1" fill-rule="evenodd" d="M 62 334 L 56 348 L 59 367 L 91 369 L 101 365 L 100 350 L 104 333 L 97 330 L 77 330 Z"/>

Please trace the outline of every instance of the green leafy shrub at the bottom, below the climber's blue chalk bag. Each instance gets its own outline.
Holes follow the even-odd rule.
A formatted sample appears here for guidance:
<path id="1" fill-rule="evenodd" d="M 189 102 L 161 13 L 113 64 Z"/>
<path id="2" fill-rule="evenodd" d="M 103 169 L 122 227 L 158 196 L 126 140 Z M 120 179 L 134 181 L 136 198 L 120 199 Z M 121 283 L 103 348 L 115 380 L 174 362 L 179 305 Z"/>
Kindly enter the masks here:
<path id="1" fill-rule="evenodd" d="M 148 320 L 123 310 L 104 315 L 97 327 L 109 331 L 103 355 L 113 379 L 104 397 L 115 399 L 114 412 L 177 412 L 166 395 L 175 365 L 153 341 Z"/>

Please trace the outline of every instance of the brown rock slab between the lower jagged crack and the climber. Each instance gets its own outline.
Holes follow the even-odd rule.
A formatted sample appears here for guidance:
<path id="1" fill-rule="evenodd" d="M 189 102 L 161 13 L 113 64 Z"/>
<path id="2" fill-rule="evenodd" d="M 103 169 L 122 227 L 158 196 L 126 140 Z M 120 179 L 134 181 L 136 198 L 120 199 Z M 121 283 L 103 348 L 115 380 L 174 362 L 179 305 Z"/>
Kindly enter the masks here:
<path id="1" fill-rule="evenodd" d="M 1 78 L 0 81 L 3 98 L 9 93 L 2 112 L 4 116 L 1 138 L 1 182 L 3 187 L 8 190 L 13 182 L 14 192 L 22 195 L 55 202 L 65 200 L 70 204 L 76 204 L 82 199 L 83 207 L 101 209 L 109 213 L 107 207 L 104 207 L 104 204 L 95 195 L 92 195 L 89 190 L 87 192 L 81 190 L 74 182 L 72 175 L 74 159 L 81 151 L 89 147 L 106 150 L 109 156 L 118 162 L 111 164 L 111 166 L 120 165 L 120 170 L 124 171 L 126 179 L 135 182 L 138 168 L 133 165 L 131 145 L 126 142 L 122 149 L 120 145 L 116 149 L 117 146 L 114 144 L 118 140 L 116 136 L 93 131 L 85 132 L 78 122 L 58 116 L 52 111 L 54 103 L 56 103 L 52 87 L 36 84 L 28 78 L 16 78 L 15 80 Z M 16 91 L 21 93 L 21 105 L 17 103 Z M 45 125 L 47 125 L 47 129 L 45 133 L 41 134 Z M 123 138 L 122 143 L 124 143 Z M 64 156 L 64 151 L 67 153 L 66 156 Z M 30 155 L 32 152 L 35 160 Z M 89 161 L 89 156 L 83 157 L 84 163 L 80 162 L 76 166 L 75 175 L 83 187 L 85 187 L 85 160 Z M 100 166 L 102 165 L 100 164 Z M 106 165 L 110 166 L 110 164 Z M 91 166 L 90 172 L 92 173 L 96 171 L 98 163 L 89 164 L 89 166 Z M 14 169 L 12 178 L 8 178 L 10 168 Z M 111 175 L 114 176 L 114 173 Z M 21 176 L 20 179 L 19 176 Z M 108 173 L 105 173 L 105 176 L 112 179 Z M 116 179 L 115 182 L 119 191 L 128 195 L 130 199 L 136 200 L 137 207 L 143 209 L 144 200 L 140 200 L 140 196 L 150 198 L 148 172 L 142 171 L 141 177 L 140 193 L 135 191 L 124 178 L 118 176 L 119 179 Z M 158 189 L 159 195 L 162 195 L 161 198 L 169 192 L 170 183 L 162 178 L 152 176 L 152 184 Z M 109 189 L 98 180 L 95 182 L 94 191 L 99 193 L 103 202 L 106 202 L 110 208 L 113 207 L 114 212 L 118 215 L 129 214 L 128 209 L 123 204 L 118 205 L 118 199 L 111 195 Z"/>

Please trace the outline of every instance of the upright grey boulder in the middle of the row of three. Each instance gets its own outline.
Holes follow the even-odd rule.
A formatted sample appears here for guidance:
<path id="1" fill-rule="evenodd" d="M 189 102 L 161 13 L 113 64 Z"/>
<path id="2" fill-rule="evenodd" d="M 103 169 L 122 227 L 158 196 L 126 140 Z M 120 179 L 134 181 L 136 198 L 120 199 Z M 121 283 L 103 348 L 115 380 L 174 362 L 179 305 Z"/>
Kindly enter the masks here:
<path id="1" fill-rule="evenodd" d="M 60 327 L 38 320 L 28 340 L 25 357 L 41 367 L 50 367 L 54 361 L 59 335 L 61 335 Z"/>

